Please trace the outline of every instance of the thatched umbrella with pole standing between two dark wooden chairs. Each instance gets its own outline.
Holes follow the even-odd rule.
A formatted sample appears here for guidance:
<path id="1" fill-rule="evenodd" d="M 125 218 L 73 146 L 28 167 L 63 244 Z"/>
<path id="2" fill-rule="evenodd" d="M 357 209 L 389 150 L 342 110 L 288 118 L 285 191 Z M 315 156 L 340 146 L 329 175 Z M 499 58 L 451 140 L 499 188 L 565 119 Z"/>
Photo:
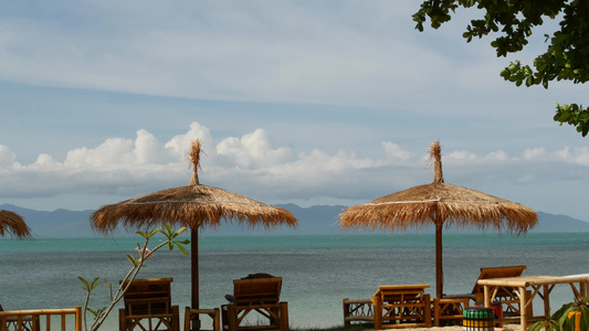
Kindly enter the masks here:
<path id="1" fill-rule="evenodd" d="M 91 215 L 95 229 L 111 233 L 119 223 L 127 229 L 148 228 L 168 223 L 190 227 L 191 239 L 191 307 L 199 308 L 198 231 L 219 227 L 221 218 L 236 221 L 250 227 L 273 228 L 296 226 L 295 216 L 276 206 L 266 205 L 218 188 L 201 185 L 198 179 L 200 140 L 194 140 L 189 154 L 193 172 L 188 186 L 168 189 L 101 207 Z"/>

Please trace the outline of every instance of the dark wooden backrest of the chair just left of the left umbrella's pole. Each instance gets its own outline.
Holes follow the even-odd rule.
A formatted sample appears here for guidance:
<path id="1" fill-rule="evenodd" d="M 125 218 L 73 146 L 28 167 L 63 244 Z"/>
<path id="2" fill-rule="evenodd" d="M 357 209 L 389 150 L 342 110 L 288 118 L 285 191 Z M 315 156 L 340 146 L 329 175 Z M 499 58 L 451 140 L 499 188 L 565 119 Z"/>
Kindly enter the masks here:
<path id="1" fill-rule="evenodd" d="M 172 280 L 172 278 L 134 279 L 124 295 L 126 313 L 128 316 L 170 313 Z"/>

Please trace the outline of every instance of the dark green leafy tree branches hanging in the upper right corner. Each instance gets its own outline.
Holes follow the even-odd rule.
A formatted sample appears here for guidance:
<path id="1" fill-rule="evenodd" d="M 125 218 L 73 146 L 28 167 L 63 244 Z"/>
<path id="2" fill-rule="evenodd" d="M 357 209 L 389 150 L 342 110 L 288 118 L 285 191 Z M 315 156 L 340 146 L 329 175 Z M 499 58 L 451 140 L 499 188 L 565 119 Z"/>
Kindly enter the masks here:
<path id="1" fill-rule="evenodd" d="M 429 21 L 439 29 L 459 8 L 477 8 L 481 17 L 471 20 L 462 34 L 473 38 L 494 36 L 491 45 L 497 57 L 516 53 L 528 44 L 533 29 L 546 20 L 560 20 L 559 29 L 545 34 L 547 50 L 532 65 L 511 63 L 501 76 L 516 86 L 541 85 L 554 81 L 585 84 L 589 81 L 589 0 L 427 0 L 413 14 L 416 29 L 423 31 Z M 589 109 L 578 104 L 557 105 L 555 121 L 576 127 L 583 137 L 589 131 Z"/>

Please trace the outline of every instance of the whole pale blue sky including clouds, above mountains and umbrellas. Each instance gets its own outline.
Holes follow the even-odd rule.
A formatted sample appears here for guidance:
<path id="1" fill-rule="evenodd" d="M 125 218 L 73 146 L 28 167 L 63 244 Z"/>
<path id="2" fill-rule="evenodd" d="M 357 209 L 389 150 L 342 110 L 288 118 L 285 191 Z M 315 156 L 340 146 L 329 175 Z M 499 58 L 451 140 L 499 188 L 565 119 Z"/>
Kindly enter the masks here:
<path id="1" fill-rule="evenodd" d="M 362 203 L 433 180 L 583 221 L 586 86 L 515 87 L 419 1 L 18 1 L 0 12 L 0 204 L 88 210 L 200 180 L 271 203 Z"/>

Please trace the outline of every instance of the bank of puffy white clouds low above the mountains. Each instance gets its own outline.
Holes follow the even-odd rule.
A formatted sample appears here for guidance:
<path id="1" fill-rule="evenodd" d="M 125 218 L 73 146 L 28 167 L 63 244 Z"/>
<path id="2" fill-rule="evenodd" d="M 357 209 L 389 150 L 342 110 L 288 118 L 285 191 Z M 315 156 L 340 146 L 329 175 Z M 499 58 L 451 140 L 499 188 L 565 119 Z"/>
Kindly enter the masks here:
<path id="1" fill-rule="evenodd" d="M 135 139 L 108 138 L 94 147 L 70 150 L 63 160 L 39 154 L 36 161 L 21 164 L 8 146 L 0 145 L 0 199 L 13 202 L 60 201 L 67 205 L 72 194 L 86 196 L 84 209 L 96 209 L 116 199 L 128 199 L 152 191 L 188 184 L 191 164 L 188 147 L 194 139 L 203 142 L 202 184 L 219 186 L 272 203 L 344 204 L 361 203 L 431 182 L 433 169 L 427 148 L 408 150 L 395 141 L 382 141 L 376 158 L 356 150 L 335 153 L 319 149 L 294 150 L 275 146 L 272 137 L 259 128 L 241 137 L 214 137 L 194 121 L 188 130 L 168 141 L 160 141 L 145 129 Z M 566 183 L 569 173 L 545 175 L 553 167 L 587 172 L 589 150 L 564 148 L 547 150 L 529 147 L 519 154 L 488 150 L 476 154 L 442 145 L 442 164 L 448 183 L 543 210 L 537 186 L 546 180 Z M 474 186 L 476 183 L 477 186 Z M 525 195 L 517 192 L 527 191 Z M 546 194 L 540 194 L 546 195 Z M 96 204 L 98 196 L 99 203 Z M 107 197 L 106 197 L 107 196 Z M 115 200 L 113 200 L 115 199 Z M 109 200 L 109 201 L 108 201 Z M 81 203 L 76 201 L 76 203 Z"/>

